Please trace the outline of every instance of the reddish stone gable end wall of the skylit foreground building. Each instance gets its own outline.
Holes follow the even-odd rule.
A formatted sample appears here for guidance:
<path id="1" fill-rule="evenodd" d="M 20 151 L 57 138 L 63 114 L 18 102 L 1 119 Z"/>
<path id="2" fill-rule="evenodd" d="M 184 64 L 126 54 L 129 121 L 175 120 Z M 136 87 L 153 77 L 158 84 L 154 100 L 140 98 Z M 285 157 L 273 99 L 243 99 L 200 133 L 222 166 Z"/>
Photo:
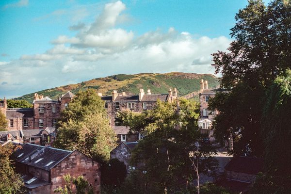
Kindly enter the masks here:
<path id="1" fill-rule="evenodd" d="M 94 193 L 100 193 L 100 171 L 98 162 L 93 161 L 91 158 L 76 150 L 51 169 L 51 194 L 53 194 L 54 189 L 64 187 L 65 180 L 63 176 L 68 173 L 75 178 L 83 176 L 89 184 L 92 183 Z"/>

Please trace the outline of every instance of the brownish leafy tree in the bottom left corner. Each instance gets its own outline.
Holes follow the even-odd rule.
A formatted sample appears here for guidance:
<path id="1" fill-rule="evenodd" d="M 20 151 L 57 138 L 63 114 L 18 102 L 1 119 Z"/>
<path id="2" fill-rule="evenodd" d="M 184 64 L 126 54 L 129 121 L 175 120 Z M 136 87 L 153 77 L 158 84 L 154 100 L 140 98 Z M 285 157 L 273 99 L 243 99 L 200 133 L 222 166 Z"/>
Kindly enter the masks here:
<path id="1" fill-rule="evenodd" d="M 21 194 L 25 193 L 24 184 L 20 175 L 17 174 L 10 160 L 14 151 L 13 144 L 0 146 L 0 194 Z"/>

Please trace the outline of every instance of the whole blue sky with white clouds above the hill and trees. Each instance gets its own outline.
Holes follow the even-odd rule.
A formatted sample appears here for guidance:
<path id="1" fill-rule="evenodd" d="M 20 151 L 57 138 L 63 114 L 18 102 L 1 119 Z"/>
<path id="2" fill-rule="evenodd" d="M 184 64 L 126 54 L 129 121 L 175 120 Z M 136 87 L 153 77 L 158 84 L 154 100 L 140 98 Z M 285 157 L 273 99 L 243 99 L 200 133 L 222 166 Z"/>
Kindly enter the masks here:
<path id="1" fill-rule="evenodd" d="M 0 98 L 114 74 L 213 74 L 211 54 L 226 51 L 234 16 L 246 5 L 247 0 L 0 0 Z"/>

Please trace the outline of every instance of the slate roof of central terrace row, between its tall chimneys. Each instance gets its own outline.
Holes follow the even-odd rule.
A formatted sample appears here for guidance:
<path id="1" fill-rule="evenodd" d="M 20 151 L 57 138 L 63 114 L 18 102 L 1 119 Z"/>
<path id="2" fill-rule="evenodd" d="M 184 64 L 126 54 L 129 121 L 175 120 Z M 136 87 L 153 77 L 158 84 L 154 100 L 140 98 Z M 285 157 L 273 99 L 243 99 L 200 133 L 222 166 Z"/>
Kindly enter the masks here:
<path id="1" fill-rule="evenodd" d="M 168 94 L 145 94 L 141 100 L 141 102 L 156 102 L 158 99 L 161 101 L 168 100 Z M 101 97 L 102 100 L 106 102 L 112 102 L 112 96 Z M 126 96 L 117 96 L 114 102 L 138 102 L 138 95 L 126 95 Z"/>

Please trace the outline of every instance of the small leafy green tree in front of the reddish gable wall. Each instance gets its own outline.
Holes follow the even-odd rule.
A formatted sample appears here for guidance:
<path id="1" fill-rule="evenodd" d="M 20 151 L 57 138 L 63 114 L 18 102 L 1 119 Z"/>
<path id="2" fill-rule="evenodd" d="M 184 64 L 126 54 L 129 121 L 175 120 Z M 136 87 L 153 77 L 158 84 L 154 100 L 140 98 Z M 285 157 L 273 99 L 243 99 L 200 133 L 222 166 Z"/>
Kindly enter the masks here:
<path id="1" fill-rule="evenodd" d="M 65 180 L 64 189 L 59 187 L 54 190 L 54 193 L 59 194 L 73 194 L 72 183 L 75 185 L 76 194 L 93 194 L 93 189 L 89 187 L 88 181 L 83 178 L 83 176 L 79 176 L 78 178 L 72 178 L 70 174 L 66 174 L 63 176 Z"/>

